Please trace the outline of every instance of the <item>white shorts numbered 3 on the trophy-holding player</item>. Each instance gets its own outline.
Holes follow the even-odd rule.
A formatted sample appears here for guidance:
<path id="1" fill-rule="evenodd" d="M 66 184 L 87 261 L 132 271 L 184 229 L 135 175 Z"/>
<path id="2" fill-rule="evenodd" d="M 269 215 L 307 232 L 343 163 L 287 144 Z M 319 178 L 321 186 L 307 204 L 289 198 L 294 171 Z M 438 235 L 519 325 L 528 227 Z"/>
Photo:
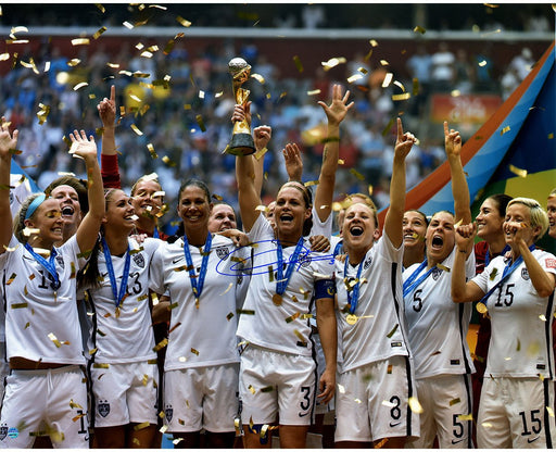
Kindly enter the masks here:
<path id="1" fill-rule="evenodd" d="M 315 407 L 316 364 L 311 356 L 249 344 L 241 353 L 239 397 L 243 425 L 311 425 Z"/>

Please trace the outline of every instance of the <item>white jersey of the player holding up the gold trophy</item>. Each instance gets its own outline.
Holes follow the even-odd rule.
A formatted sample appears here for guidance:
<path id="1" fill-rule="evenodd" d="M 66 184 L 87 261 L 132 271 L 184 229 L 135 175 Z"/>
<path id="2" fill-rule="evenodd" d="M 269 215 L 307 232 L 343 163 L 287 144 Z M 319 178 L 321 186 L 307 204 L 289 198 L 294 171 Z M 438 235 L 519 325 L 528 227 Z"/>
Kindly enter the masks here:
<path id="1" fill-rule="evenodd" d="M 277 285 L 277 241 L 268 221 L 258 216 L 249 233 L 255 243 L 253 272 L 249 291 L 239 319 L 238 336 L 243 340 L 274 351 L 311 355 L 309 314 L 317 279 L 330 279 L 333 274 L 331 256 L 311 252 L 304 240 L 291 279 L 281 297 L 281 304 L 273 302 Z M 288 263 L 295 247 L 283 248 Z M 286 269 L 283 269 L 286 276 Z"/>

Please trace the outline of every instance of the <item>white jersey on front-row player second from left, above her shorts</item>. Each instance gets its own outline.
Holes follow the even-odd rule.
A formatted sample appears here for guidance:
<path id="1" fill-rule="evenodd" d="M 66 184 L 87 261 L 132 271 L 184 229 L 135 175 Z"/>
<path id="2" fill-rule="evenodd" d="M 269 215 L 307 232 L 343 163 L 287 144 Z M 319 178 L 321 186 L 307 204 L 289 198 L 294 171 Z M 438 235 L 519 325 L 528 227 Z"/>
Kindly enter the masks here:
<path id="1" fill-rule="evenodd" d="M 117 312 L 104 253 L 102 249 L 99 250 L 100 287 L 88 290 L 89 303 L 94 312 L 88 347 L 89 350 L 97 350 L 93 355 L 96 363 L 136 363 L 156 357 L 149 304 L 149 265 L 162 241 L 148 238 L 139 244 L 129 238 L 128 243 L 127 294 Z M 126 256 L 127 253 L 123 256 L 112 255 L 118 293 Z"/>

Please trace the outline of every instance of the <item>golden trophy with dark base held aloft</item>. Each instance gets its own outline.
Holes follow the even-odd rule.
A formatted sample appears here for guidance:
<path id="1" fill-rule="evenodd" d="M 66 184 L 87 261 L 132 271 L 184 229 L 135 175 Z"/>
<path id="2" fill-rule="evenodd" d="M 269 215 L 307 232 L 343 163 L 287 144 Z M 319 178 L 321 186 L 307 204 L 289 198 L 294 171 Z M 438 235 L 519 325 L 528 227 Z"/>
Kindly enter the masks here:
<path id="1" fill-rule="evenodd" d="M 251 66 L 242 58 L 235 58 L 228 63 L 228 72 L 232 76 L 236 103 L 245 106 L 250 91 L 249 89 L 242 88 L 241 85 L 249 79 Z M 255 152 L 255 143 L 251 136 L 251 126 L 247 120 L 233 123 L 231 141 L 226 152 L 233 155 L 250 155 Z"/>

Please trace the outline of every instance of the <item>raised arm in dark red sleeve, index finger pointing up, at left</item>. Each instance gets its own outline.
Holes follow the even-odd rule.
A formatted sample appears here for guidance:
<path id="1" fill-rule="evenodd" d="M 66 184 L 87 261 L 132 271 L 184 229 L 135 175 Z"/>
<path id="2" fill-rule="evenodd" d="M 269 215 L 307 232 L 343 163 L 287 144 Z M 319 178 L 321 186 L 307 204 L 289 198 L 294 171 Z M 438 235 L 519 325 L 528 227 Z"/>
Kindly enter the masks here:
<path id="1" fill-rule="evenodd" d="M 110 88 L 110 99 L 104 98 L 97 105 L 102 121 L 101 166 L 105 188 L 122 188 L 116 152 L 116 87 Z"/>

